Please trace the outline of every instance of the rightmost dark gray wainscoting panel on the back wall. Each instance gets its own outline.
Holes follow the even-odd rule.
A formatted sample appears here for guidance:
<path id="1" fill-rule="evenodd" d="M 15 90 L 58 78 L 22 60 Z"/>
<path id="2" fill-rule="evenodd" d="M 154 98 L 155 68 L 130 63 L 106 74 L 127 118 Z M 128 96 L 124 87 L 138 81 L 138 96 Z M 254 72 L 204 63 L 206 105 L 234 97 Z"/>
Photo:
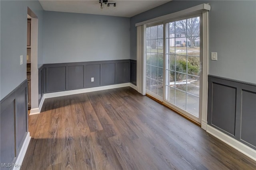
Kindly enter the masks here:
<path id="1" fill-rule="evenodd" d="M 116 83 L 130 82 L 130 63 L 116 63 Z"/>

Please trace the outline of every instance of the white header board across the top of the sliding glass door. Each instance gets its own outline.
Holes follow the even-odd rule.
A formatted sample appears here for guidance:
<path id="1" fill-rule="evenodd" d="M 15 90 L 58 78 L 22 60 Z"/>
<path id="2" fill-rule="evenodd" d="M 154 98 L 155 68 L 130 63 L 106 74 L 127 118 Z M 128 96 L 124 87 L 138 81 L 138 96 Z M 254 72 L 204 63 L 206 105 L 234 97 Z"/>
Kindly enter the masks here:
<path id="1" fill-rule="evenodd" d="M 164 15 L 164 16 L 157 17 L 157 18 L 153 18 L 151 20 L 146 20 L 146 21 L 136 23 L 135 26 L 137 27 L 137 26 L 140 26 L 140 25 L 148 24 L 148 23 L 170 20 L 172 18 L 176 18 L 178 16 L 183 16 L 183 15 L 187 15 L 187 14 L 191 14 L 193 12 L 197 12 L 197 11 L 200 11 L 200 10 L 210 11 L 211 6 L 209 4 L 200 4 L 200 5 L 185 9 L 185 10 L 181 10 L 181 11 L 178 11 L 178 12 L 174 12 L 174 13 L 171 13 L 171 14 L 167 14 L 167 15 Z"/>

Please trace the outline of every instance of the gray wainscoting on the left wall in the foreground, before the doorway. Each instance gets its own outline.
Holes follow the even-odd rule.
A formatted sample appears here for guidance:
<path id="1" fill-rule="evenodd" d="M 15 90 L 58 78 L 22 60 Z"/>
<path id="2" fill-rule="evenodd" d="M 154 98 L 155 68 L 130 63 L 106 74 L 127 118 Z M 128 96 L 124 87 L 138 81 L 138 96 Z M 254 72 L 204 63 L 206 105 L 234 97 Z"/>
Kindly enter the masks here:
<path id="1" fill-rule="evenodd" d="M 1 100 L 1 163 L 14 163 L 28 132 L 28 81 Z M 10 169 L 5 167 L 4 169 Z"/>

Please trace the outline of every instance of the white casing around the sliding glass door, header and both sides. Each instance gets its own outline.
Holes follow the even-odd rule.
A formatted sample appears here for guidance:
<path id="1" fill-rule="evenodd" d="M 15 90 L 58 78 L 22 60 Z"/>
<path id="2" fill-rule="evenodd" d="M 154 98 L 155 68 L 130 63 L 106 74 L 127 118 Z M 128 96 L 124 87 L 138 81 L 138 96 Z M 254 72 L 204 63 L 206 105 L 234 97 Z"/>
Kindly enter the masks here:
<path id="1" fill-rule="evenodd" d="M 190 16 L 195 13 L 202 14 L 202 63 L 200 63 L 200 69 L 202 70 L 202 92 L 200 93 L 200 119 L 201 127 L 206 130 L 207 128 L 207 104 L 208 104 L 208 11 L 211 7 L 209 4 L 200 4 L 182 11 L 178 11 L 165 16 L 153 18 L 151 20 L 136 23 L 137 27 L 137 90 L 141 94 L 146 94 L 146 48 L 144 44 L 144 34 L 146 34 L 146 24 L 158 23 L 160 21 L 173 20 L 175 18 L 181 18 Z M 144 31 L 143 31 L 143 29 Z M 139 32 L 138 32 L 139 30 Z M 142 41 L 142 38 L 144 41 Z M 164 60 L 165 62 L 165 60 Z M 144 64 L 143 64 L 144 63 Z M 165 66 L 165 63 L 164 63 Z M 200 87 L 201 88 L 201 87 Z M 145 91 L 144 91 L 145 89 Z"/>

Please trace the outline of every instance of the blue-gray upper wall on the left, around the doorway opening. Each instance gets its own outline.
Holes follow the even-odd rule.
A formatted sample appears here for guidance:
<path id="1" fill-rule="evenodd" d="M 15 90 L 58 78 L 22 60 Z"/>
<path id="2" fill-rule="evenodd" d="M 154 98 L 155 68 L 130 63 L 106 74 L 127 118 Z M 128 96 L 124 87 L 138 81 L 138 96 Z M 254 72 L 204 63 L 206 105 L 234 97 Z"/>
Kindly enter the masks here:
<path id="1" fill-rule="evenodd" d="M 26 79 L 27 8 L 38 16 L 38 63 L 42 58 L 42 6 L 38 1 L 0 1 L 1 59 L 0 99 Z M 23 64 L 20 65 L 20 55 Z"/>

